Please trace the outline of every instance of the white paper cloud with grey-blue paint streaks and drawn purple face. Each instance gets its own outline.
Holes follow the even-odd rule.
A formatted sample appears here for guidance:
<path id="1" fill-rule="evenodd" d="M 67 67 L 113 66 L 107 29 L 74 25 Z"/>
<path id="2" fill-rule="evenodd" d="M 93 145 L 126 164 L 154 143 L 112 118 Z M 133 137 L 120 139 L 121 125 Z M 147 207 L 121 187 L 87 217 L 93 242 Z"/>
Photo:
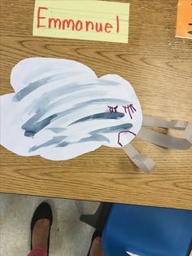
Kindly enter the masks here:
<path id="1" fill-rule="evenodd" d="M 15 93 L 1 96 L 1 144 L 20 156 L 66 160 L 102 145 L 121 148 L 142 127 L 129 82 L 98 78 L 73 60 L 22 60 L 11 86 Z"/>

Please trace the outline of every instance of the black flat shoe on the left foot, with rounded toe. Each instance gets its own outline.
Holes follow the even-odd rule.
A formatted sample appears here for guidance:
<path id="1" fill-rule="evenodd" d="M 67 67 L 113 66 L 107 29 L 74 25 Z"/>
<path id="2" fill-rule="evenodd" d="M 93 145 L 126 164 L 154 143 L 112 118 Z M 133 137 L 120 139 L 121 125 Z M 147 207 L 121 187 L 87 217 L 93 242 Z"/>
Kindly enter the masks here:
<path id="1" fill-rule="evenodd" d="M 37 209 L 35 210 L 33 214 L 33 218 L 31 221 L 31 249 L 32 248 L 32 234 L 33 234 L 33 227 L 35 226 L 35 223 L 41 218 L 48 218 L 50 220 L 50 227 L 53 222 L 53 215 L 52 210 L 50 208 L 50 205 L 48 205 L 46 202 L 42 202 L 40 205 L 38 205 Z M 47 241 L 47 255 L 49 255 L 49 247 L 50 247 L 50 232 L 48 236 Z"/>

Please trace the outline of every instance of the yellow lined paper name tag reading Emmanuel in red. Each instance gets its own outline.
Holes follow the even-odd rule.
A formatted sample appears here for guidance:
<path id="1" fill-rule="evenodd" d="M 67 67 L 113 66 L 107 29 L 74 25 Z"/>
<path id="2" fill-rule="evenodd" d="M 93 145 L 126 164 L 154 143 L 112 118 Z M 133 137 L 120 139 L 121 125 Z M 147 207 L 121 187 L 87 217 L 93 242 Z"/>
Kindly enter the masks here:
<path id="1" fill-rule="evenodd" d="M 129 3 L 36 0 L 33 35 L 127 43 Z"/>

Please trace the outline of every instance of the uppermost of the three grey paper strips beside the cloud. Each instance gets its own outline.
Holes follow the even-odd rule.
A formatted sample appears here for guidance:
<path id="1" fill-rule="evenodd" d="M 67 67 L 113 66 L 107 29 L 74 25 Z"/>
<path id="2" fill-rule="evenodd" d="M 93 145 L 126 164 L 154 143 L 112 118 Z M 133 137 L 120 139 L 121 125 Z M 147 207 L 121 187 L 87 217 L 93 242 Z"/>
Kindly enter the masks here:
<path id="1" fill-rule="evenodd" d="M 144 116 L 142 121 L 142 126 L 151 126 L 151 127 L 162 127 L 174 130 L 185 130 L 188 125 L 188 121 L 181 120 L 172 120 L 166 121 L 159 117 L 148 117 Z"/>

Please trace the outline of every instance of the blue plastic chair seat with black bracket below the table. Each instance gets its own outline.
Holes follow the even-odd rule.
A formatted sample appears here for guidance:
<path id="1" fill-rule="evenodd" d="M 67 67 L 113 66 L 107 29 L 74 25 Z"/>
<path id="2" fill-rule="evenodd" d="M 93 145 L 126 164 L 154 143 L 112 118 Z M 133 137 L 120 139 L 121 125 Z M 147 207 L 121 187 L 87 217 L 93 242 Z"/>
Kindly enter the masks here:
<path id="1" fill-rule="evenodd" d="M 105 256 L 189 256 L 192 245 L 192 211 L 142 205 L 104 205 L 83 221 L 97 229 L 103 228 Z M 101 209 L 102 208 L 102 209 Z M 102 210 L 105 212 L 104 225 Z M 96 218 L 95 218 L 96 217 Z M 86 221 L 87 220 L 87 221 Z M 94 223 L 94 224 L 93 224 Z M 103 227 L 102 227 L 103 226 Z"/>

